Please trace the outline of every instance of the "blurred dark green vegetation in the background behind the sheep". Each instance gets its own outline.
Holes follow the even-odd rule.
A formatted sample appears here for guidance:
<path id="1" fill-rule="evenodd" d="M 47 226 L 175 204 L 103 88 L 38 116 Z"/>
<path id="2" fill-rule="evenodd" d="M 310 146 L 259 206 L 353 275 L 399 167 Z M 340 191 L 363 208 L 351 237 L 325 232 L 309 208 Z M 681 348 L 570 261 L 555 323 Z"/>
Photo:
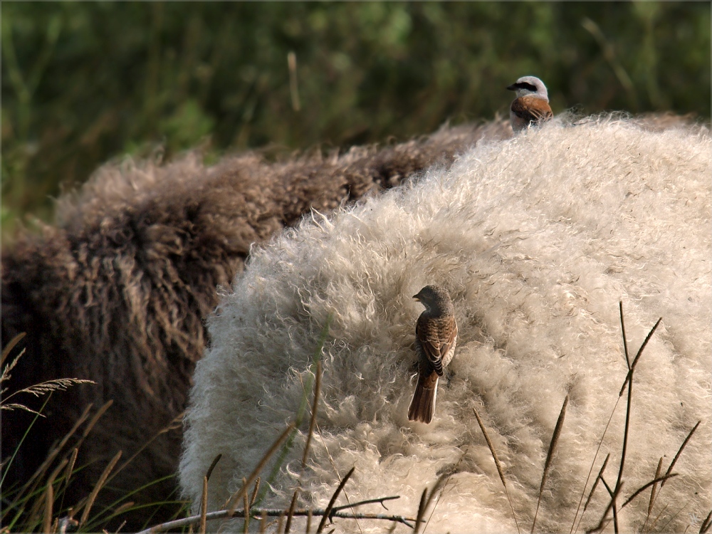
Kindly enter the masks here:
<path id="1" fill-rule="evenodd" d="M 710 3 L 11 2 L 2 222 L 162 146 L 286 150 L 506 115 L 521 75 L 555 112 L 710 117 Z M 295 69 L 288 54 L 295 55 Z M 290 72 L 295 74 L 296 83 Z"/>

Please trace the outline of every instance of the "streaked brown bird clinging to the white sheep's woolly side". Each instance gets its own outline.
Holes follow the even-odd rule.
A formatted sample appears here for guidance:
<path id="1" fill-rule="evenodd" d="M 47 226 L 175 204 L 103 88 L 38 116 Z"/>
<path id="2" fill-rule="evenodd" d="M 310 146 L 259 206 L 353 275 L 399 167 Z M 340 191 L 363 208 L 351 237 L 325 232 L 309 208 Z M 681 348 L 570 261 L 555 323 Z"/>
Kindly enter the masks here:
<path id="1" fill-rule="evenodd" d="M 425 311 L 415 327 L 418 385 L 408 409 L 408 419 L 429 423 L 435 414 L 438 379 L 455 354 L 457 324 L 452 300 L 444 288 L 425 286 L 413 298 L 425 306 Z"/>

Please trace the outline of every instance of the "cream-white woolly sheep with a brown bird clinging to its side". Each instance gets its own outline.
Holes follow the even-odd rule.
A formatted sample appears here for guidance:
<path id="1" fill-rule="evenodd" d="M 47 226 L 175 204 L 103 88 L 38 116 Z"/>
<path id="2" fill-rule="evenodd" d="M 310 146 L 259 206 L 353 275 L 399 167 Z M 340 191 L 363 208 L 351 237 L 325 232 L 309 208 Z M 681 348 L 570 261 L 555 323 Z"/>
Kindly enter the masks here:
<path id="1" fill-rule="evenodd" d="M 399 495 L 388 513 L 414 517 L 423 489 L 446 473 L 429 532 L 514 532 L 477 409 L 528 531 L 569 395 L 537 520 L 537 530 L 568 531 L 608 453 L 604 478 L 614 484 L 617 476 L 626 399 L 618 394 L 627 374 L 622 300 L 631 357 L 663 320 L 634 375 L 619 506 L 654 478 L 661 457 L 669 466 L 701 420 L 646 527 L 697 530 L 712 483 L 711 148 L 700 127 L 554 121 L 482 142 L 451 169 L 432 169 L 333 216 L 314 213 L 254 250 L 209 320 L 210 345 L 194 375 L 180 466 L 194 510 L 217 454 L 209 510 L 224 505 L 294 420 L 331 316 L 308 466 L 300 467 L 304 422 L 268 506 L 288 506 L 300 487 L 303 506 L 323 507 L 355 466 L 345 487 L 350 502 Z M 407 409 L 422 311 L 412 295 L 429 283 L 450 291 L 460 334 L 452 377 L 424 425 L 409 422 Z M 648 498 L 646 491 L 619 512 L 622 531 L 642 528 Z M 596 525 L 608 501 L 599 484 L 576 530 Z M 384 512 L 377 504 L 359 511 Z M 231 521 L 222 528 L 241 528 Z M 336 528 L 385 527 L 337 520 Z"/>

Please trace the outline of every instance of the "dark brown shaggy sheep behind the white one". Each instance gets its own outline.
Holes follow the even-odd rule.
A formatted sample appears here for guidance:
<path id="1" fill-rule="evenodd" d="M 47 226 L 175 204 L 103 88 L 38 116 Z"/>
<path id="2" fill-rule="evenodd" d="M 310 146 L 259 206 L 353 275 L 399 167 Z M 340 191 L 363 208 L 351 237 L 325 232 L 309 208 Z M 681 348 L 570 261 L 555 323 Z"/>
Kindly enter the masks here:
<path id="1" fill-rule="evenodd" d="M 2 254 L 3 345 L 27 333 L 11 387 L 60 377 L 97 382 L 54 395 L 5 487 L 27 480 L 88 403 L 96 409 L 110 399 L 80 449 L 77 465 L 90 465 L 74 477 L 75 496 L 88 496 L 118 449 L 127 459 L 154 437 L 111 481 L 115 491 L 100 493 L 100 503 L 174 474 L 177 418 L 204 347 L 203 320 L 218 302 L 217 286 L 241 271 L 251 245 L 312 208 L 328 211 L 377 194 L 431 164 L 451 163 L 482 137 L 509 135 L 497 120 L 341 155 L 269 162 L 255 151 L 206 167 L 189 154 L 169 164 L 127 159 L 100 168 L 80 192 L 58 199 L 56 224 L 40 236 L 18 236 Z M 4 414 L 4 458 L 30 421 Z M 165 501 L 176 488 L 172 480 L 154 483 L 130 500 Z"/>

